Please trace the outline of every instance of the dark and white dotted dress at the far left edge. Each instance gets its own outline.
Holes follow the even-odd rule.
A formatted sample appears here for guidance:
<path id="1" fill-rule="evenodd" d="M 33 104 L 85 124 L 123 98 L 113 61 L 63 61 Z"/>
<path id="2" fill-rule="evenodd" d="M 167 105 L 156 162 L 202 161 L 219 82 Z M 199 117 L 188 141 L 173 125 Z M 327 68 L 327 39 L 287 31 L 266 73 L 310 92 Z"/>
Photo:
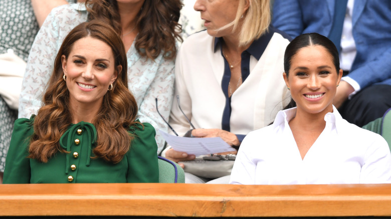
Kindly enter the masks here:
<path id="1" fill-rule="evenodd" d="M 0 54 L 13 49 L 27 61 L 39 30 L 31 0 L 0 0 Z M 11 109 L 0 96 L 0 171 L 4 171 L 14 121 L 18 111 Z"/>

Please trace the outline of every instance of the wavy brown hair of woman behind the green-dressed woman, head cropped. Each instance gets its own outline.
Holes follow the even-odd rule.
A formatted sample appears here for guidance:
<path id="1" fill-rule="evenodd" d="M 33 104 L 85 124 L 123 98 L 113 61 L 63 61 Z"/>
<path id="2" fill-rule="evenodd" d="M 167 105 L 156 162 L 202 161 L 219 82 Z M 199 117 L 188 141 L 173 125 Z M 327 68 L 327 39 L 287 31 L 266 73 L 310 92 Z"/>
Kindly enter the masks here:
<path id="1" fill-rule="evenodd" d="M 88 20 L 102 19 L 121 35 L 121 18 L 116 0 L 86 0 Z M 164 58 L 176 56 L 175 39 L 182 41 L 181 25 L 178 23 L 181 0 L 145 0 L 137 14 L 139 30 L 135 47 L 141 56 L 155 59 L 161 52 Z"/>

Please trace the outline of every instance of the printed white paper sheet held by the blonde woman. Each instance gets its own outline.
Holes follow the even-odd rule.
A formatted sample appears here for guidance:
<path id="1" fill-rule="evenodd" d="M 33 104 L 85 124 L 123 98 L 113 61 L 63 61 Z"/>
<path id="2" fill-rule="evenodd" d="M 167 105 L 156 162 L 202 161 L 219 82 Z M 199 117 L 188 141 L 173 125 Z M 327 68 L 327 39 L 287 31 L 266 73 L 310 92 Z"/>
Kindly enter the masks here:
<path id="1" fill-rule="evenodd" d="M 235 150 L 221 137 L 179 137 L 159 131 L 174 150 L 183 151 L 187 154 L 198 156 Z"/>

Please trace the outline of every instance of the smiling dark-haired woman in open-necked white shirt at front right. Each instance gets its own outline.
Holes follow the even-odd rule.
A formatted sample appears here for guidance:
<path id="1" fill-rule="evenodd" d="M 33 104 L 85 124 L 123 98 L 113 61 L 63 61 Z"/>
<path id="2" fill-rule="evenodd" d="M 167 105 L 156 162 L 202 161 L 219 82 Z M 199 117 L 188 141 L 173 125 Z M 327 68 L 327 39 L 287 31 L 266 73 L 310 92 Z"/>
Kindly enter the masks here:
<path id="1" fill-rule="evenodd" d="M 318 33 L 286 48 L 283 73 L 297 107 L 243 140 L 230 183 L 391 182 L 391 154 L 378 134 L 348 123 L 332 105 L 342 76 L 335 45 Z"/>

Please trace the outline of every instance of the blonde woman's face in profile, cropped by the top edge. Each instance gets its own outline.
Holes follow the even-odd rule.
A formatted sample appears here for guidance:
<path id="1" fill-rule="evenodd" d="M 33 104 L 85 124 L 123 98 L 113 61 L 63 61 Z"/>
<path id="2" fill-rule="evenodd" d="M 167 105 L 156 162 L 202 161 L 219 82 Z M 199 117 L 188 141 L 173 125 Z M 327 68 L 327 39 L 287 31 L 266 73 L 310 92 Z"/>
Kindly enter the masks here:
<path id="1" fill-rule="evenodd" d="M 238 0 L 197 0 L 194 3 L 194 10 L 201 12 L 208 34 L 221 37 L 232 33 L 233 27 L 220 31 L 217 29 L 234 21 L 238 5 Z"/>

